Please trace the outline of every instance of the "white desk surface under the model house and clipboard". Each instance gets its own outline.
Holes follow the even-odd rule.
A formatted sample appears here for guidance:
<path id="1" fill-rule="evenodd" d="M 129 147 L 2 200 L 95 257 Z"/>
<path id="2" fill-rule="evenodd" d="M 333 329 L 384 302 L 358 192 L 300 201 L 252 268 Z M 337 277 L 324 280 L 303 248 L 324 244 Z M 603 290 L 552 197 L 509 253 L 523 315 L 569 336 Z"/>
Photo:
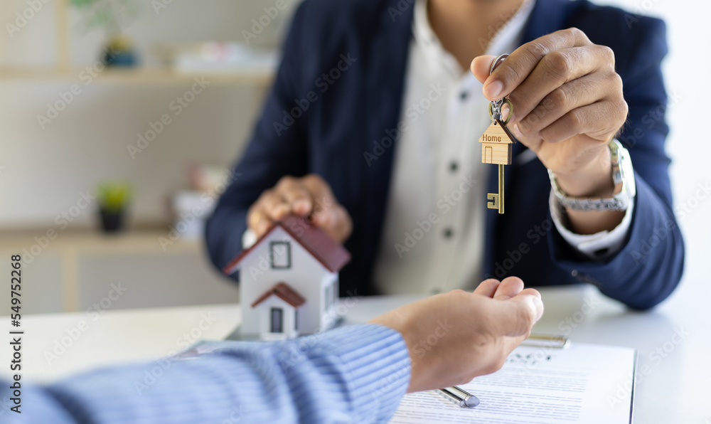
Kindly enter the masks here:
<path id="1" fill-rule="evenodd" d="M 549 287 L 540 291 L 546 312 L 534 332 L 567 334 L 573 341 L 637 349 L 636 423 L 711 424 L 708 290 L 694 295 L 680 287 L 670 300 L 645 313 L 627 311 L 594 287 Z M 360 298 L 347 308 L 347 321 L 365 322 L 416 299 Z M 150 361 L 182 349 L 188 342 L 186 334 L 223 339 L 240 322 L 239 306 L 234 304 L 107 311 L 95 321 L 92 318 L 81 313 L 23 317 L 23 376 L 48 382 L 97 366 Z M 45 352 L 52 352 L 55 341 L 61 341 L 68 329 L 82 320 L 88 325 L 86 331 L 49 364 Z M 11 328 L 9 317 L 0 317 L 0 323 L 0 328 Z M 675 332 L 685 334 L 683 339 L 674 336 Z M 4 334 L 2 339 L 6 340 L 7 332 Z M 9 358 L 6 341 L 0 344 L 0 352 L 0 357 Z M 643 366 L 646 374 L 639 373 Z M 0 376 L 9 375 L 9 368 L 1 366 Z"/>

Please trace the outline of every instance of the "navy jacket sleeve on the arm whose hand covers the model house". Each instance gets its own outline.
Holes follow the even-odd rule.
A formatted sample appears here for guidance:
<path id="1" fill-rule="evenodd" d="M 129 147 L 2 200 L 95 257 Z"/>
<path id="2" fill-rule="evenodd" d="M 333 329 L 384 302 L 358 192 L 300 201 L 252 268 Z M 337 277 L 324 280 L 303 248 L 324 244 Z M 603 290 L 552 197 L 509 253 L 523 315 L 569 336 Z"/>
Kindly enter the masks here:
<path id="1" fill-rule="evenodd" d="M 305 95 L 297 82 L 303 68 L 299 65 L 300 40 L 308 3 L 304 2 L 296 10 L 260 120 L 241 161 L 232 171 L 232 184 L 220 197 L 205 228 L 210 259 L 219 269 L 242 250 L 247 209 L 260 194 L 277 184 L 282 176 L 302 176 L 309 169 L 306 126 L 299 120 L 304 110 L 295 102 Z"/>

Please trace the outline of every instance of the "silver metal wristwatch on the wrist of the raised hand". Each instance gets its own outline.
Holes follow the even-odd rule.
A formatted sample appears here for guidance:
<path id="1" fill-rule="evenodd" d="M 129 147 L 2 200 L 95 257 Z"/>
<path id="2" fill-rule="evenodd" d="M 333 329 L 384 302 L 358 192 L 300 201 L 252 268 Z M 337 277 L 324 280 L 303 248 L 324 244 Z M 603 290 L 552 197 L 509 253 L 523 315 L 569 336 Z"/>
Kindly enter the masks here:
<path id="1" fill-rule="evenodd" d="M 636 187 L 634 185 L 634 171 L 632 170 L 629 152 L 616 139 L 613 139 L 608 144 L 608 147 L 610 148 L 610 159 L 612 161 L 612 181 L 614 181 L 615 185 L 612 198 L 569 197 L 558 186 L 555 174 L 548 169 L 550 186 L 561 206 L 575 211 L 625 211 L 630 203 L 634 201 Z"/>

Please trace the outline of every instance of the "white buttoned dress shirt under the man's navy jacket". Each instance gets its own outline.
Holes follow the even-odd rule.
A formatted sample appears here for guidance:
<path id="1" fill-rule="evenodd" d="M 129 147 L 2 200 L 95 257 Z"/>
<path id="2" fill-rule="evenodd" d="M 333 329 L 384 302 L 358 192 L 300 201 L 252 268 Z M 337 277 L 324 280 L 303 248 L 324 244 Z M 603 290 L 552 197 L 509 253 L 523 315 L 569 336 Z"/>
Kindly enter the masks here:
<path id="1" fill-rule="evenodd" d="M 486 54 L 520 46 L 535 1 L 525 1 L 488 43 Z M 427 0 L 415 3 L 414 34 L 405 75 L 400 132 L 375 283 L 384 294 L 471 290 L 481 280 L 488 169 L 476 142 L 486 130 L 488 100 L 469 70 L 439 43 L 427 18 Z M 527 152 L 528 153 L 528 152 Z M 533 152 L 515 159 L 535 159 Z M 491 166 L 491 165 L 489 165 Z M 577 235 L 562 225 L 551 196 L 552 218 L 570 245 L 584 255 L 621 248 L 631 209 L 613 231 Z"/>

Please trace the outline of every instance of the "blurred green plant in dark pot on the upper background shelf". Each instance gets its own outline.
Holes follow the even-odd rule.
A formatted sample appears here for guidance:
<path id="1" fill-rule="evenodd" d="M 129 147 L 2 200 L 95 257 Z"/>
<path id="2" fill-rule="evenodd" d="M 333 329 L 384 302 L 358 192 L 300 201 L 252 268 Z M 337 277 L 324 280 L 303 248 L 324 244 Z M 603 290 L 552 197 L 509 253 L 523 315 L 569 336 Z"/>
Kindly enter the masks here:
<path id="1" fill-rule="evenodd" d="M 70 0 L 70 5 L 82 14 L 80 27 L 85 32 L 98 28 L 104 31 L 107 43 L 102 62 L 109 66 L 134 66 L 137 57 L 129 38 L 122 31 L 139 16 L 137 0 Z"/>

